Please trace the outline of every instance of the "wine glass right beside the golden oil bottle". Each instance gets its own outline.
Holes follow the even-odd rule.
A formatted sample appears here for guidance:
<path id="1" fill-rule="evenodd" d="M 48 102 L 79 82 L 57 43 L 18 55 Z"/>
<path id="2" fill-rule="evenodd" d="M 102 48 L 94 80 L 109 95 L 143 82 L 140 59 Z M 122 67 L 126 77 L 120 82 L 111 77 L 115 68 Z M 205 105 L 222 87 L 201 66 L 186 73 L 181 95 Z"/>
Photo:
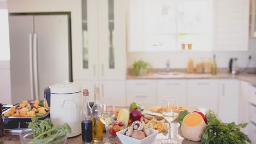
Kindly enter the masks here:
<path id="1" fill-rule="evenodd" d="M 109 143 L 108 139 L 108 125 L 114 121 L 115 118 L 115 106 L 113 100 L 110 101 L 101 101 L 100 107 L 100 120 L 106 127 L 106 142 Z"/>

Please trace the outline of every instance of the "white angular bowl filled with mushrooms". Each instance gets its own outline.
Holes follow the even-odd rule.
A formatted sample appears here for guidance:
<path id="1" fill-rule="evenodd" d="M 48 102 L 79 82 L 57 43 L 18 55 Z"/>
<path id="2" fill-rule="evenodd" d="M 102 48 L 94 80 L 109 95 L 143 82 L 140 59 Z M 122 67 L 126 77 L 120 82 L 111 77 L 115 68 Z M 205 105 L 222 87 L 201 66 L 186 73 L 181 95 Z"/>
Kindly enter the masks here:
<path id="1" fill-rule="evenodd" d="M 123 144 L 153 143 L 156 135 L 158 135 L 158 130 L 149 129 L 139 121 L 135 121 L 130 127 L 117 132 L 117 136 Z"/>

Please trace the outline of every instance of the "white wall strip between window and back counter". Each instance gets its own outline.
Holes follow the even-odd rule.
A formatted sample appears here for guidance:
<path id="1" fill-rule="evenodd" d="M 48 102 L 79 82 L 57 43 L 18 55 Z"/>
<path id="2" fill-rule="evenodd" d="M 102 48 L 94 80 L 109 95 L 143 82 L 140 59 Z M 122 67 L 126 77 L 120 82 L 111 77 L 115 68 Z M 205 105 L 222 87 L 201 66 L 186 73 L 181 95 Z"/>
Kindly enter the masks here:
<path id="1" fill-rule="evenodd" d="M 256 67 L 256 39 L 249 40 L 248 52 L 199 52 L 199 51 L 175 51 L 175 52 L 127 52 L 127 67 L 131 68 L 134 61 L 142 59 L 148 61 L 153 68 L 166 68 L 166 61 L 170 59 L 170 68 L 186 68 L 189 57 L 211 58 L 216 54 L 219 68 L 228 68 L 229 58 L 237 57 L 239 67 L 246 67 L 248 56 L 252 56 L 249 67 Z"/>

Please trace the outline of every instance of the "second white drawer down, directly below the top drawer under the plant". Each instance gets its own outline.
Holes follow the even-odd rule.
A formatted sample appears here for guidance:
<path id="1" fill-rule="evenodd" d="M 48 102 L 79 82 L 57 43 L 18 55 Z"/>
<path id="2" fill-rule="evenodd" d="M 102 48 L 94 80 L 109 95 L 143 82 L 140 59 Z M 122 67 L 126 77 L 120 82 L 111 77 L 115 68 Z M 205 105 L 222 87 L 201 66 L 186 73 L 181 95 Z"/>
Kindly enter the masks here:
<path id="1" fill-rule="evenodd" d="M 127 105 L 137 102 L 143 106 L 156 105 L 156 94 L 152 92 L 127 92 Z"/>

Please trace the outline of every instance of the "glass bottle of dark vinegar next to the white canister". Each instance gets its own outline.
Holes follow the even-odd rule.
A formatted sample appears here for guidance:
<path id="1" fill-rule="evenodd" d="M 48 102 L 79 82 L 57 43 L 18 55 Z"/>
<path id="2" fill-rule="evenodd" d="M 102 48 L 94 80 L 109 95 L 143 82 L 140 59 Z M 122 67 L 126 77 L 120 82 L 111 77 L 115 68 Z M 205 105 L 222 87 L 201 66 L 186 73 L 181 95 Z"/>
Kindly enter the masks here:
<path id="1" fill-rule="evenodd" d="M 81 111 L 82 140 L 84 142 L 92 142 L 92 121 L 91 107 L 89 105 L 89 92 L 84 89 L 84 106 Z"/>

